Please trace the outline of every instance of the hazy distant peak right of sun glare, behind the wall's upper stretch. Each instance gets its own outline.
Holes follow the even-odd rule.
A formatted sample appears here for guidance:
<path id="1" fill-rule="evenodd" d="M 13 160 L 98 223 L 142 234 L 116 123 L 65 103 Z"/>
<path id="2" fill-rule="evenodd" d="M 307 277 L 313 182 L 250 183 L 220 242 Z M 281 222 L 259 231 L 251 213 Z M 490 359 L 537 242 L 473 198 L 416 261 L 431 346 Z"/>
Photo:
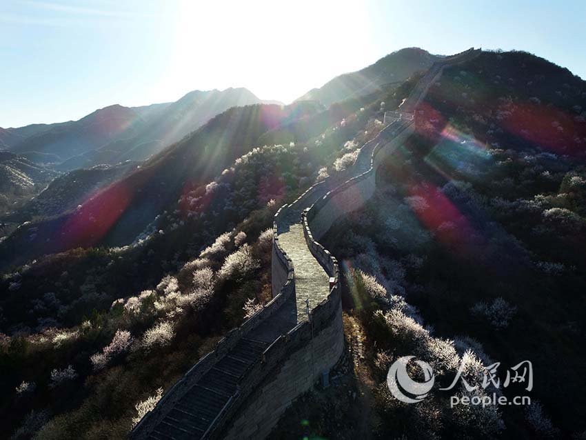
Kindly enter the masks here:
<path id="1" fill-rule="evenodd" d="M 430 68 L 439 58 L 419 48 L 397 50 L 358 72 L 335 77 L 321 88 L 314 88 L 305 93 L 296 101 L 319 101 L 329 107 L 334 102 L 381 90 L 386 84 L 405 81 L 415 72 Z"/>

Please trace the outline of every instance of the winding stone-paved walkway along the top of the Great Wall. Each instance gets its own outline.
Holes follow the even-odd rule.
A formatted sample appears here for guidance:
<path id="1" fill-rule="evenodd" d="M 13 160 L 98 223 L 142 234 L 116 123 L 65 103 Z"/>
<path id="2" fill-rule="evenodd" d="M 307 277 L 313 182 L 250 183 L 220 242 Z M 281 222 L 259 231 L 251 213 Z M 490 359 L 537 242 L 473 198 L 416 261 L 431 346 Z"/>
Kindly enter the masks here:
<path id="1" fill-rule="evenodd" d="M 233 330 L 235 333 L 225 338 L 228 348 L 219 344 L 214 352 L 200 359 L 181 381 L 165 392 L 156 408 L 143 417 L 131 432 L 132 439 L 207 439 L 217 434 L 214 428 L 225 421 L 223 419 L 228 417 L 228 410 L 231 407 L 234 409 L 234 402 L 240 397 L 239 383 L 253 374 L 252 367 L 263 358 L 265 349 L 281 335 L 307 321 L 307 300 L 312 310 L 330 294 L 330 275 L 307 247 L 301 223 L 302 212 L 347 179 L 370 170 L 374 150 L 393 139 L 395 132 L 405 126 L 405 120 L 410 123 L 416 105 L 441 75 L 443 67 L 477 53 L 463 52 L 434 64 L 401 106 L 401 113 L 385 114 L 387 122 L 391 122 L 378 137 L 365 143 L 348 172 L 312 187 L 292 205 L 282 208 L 281 215 L 276 219 L 276 235 L 294 268 L 294 294 L 284 297 L 276 312 L 262 321 L 256 321 L 248 330 L 243 330 L 247 323 Z"/>

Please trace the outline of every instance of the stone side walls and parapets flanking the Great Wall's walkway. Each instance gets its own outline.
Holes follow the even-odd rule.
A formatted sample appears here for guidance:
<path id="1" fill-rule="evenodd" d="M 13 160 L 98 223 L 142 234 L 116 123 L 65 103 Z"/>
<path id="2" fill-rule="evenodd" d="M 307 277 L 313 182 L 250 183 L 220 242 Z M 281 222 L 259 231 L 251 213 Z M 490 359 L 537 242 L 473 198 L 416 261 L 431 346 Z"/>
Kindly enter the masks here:
<path id="1" fill-rule="evenodd" d="M 432 66 L 412 93 L 414 99 L 409 99 L 402 110 L 407 112 L 414 108 L 414 103 L 416 105 L 423 98 L 434 80 L 441 75 L 444 66 L 461 62 L 477 53 L 479 51 L 469 50 Z M 375 139 L 363 146 L 351 169 L 336 177 L 336 181 L 329 181 L 329 187 L 321 187 L 323 182 L 317 183 L 290 206 L 283 206 L 277 212 L 273 225 L 272 301 L 247 319 L 241 327 L 229 332 L 212 352 L 200 359 L 183 379 L 165 392 L 155 410 L 146 414 L 132 431 L 131 438 L 146 438 L 150 427 L 159 423 L 165 413 L 218 359 L 228 354 L 241 338 L 261 326 L 267 317 L 277 312 L 295 294 L 293 263 L 279 245 L 277 226 L 280 216 L 299 215 L 303 209 L 305 242 L 330 276 L 330 294 L 310 311 L 309 321 L 299 323 L 287 334 L 279 336 L 265 349 L 261 359 L 256 359 L 251 364 L 239 381 L 236 392 L 217 414 L 202 438 L 267 437 L 294 399 L 309 390 L 323 372 L 329 371 L 336 364 L 344 344 L 339 267 L 336 259 L 316 240 L 323 237 L 335 221 L 361 208 L 372 197 L 376 189 L 376 168 L 385 157 L 405 142 L 414 129 L 415 124 L 410 119 L 402 118 L 401 121 L 391 123 Z M 348 176 L 354 177 L 346 180 Z M 339 181 L 344 183 L 335 187 Z M 321 192 L 334 187 L 334 190 L 316 199 Z M 321 192 L 317 192 L 318 190 Z M 316 201 L 311 204 L 314 199 Z"/>

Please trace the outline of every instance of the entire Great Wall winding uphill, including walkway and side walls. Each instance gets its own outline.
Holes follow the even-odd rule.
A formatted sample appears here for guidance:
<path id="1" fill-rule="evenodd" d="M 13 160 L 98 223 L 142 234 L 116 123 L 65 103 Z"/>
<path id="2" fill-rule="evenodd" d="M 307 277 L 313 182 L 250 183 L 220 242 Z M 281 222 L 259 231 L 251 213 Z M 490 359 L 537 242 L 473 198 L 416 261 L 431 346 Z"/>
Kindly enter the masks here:
<path id="1" fill-rule="evenodd" d="M 414 132 L 414 112 L 443 69 L 479 53 L 472 48 L 434 63 L 401 111 L 385 113 L 385 128 L 365 143 L 354 166 L 276 213 L 272 300 L 165 392 L 131 439 L 263 439 L 294 399 L 335 366 L 344 350 L 340 273 L 318 240 L 372 197 L 376 169 Z"/>

